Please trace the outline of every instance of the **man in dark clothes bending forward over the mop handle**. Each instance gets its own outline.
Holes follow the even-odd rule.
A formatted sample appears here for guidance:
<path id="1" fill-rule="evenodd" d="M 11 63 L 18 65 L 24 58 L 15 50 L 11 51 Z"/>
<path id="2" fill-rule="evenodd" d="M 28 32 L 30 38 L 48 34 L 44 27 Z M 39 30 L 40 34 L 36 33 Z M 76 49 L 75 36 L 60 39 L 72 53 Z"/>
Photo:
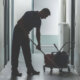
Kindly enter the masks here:
<path id="1" fill-rule="evenodd" d="M 40 50 L 41 19 L 45 19 L 49 15 L 50 11 L 47 8 L 44 8 L 41 11 L 28 11 L 17 22 L 14 28 L 12 40 L 12 55 L 11 55 L 12 76 L 22 76 L 22 73 L 19 73 L 17 69 L 20 46 L 22 47 L 23 50 L 23 56 L 27 67 L 27 74 L 28 75 L 39 74 L 39 72 L 35 71 L 32 66 L 29 32 L 33 28 L 36 28 L 36 38 L 38 42 L 36 48 Z"/>

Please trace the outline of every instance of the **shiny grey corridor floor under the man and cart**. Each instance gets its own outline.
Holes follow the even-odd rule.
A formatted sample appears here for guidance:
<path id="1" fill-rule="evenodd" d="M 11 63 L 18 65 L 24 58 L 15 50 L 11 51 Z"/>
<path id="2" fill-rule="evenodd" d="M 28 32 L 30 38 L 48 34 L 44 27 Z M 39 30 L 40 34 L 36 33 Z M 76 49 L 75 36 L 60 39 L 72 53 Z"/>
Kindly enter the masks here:
<path id="1" fill-rule="evenodd" d="M 40 75 L 27 76 L 24 59 L 20 58 L 18 69 L 19 72 L 22 72 L 22 77 L 17 77 L 14 79 L 11 78 L 11 64 L 8 62 L 5 69 L 0 72 L 0 80 L 80 80 L 80 76 L 78 76 L 74 69 L 71 69 L 70 73 L 67 69 L 64 69 L 62 73 L 59 73 L 59 69 L 54 68 L 52 74 L 50 74 L 50 69 L 46 68 L 46 71 L 44 72 L 44 57 L 42 54 L 32 55 L 34 69 L 40 71 Z"/>

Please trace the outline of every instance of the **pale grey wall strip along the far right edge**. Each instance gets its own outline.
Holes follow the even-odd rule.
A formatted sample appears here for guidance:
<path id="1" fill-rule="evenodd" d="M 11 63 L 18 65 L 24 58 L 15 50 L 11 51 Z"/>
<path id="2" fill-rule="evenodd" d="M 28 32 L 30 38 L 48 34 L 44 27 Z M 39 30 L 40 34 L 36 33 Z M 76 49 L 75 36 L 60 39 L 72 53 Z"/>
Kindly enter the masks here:
<path id="1" fill-rule="evenodd" d="M 80 74 L 80 0 L 75 0 L 75 68 Z"/>

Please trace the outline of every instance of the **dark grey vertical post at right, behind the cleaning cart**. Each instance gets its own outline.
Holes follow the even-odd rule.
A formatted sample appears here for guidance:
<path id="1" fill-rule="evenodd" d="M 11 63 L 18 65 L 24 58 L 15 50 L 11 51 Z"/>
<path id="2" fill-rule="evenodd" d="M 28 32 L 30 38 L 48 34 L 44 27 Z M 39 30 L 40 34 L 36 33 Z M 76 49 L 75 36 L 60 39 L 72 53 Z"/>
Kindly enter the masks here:
<path id="1" fill-rule="evenodd" d="M 71 42 L 75 42 L 75 0 L 71 0 Z M 74 65 L 73 43 L 71 43 L 71 64 Z"/>

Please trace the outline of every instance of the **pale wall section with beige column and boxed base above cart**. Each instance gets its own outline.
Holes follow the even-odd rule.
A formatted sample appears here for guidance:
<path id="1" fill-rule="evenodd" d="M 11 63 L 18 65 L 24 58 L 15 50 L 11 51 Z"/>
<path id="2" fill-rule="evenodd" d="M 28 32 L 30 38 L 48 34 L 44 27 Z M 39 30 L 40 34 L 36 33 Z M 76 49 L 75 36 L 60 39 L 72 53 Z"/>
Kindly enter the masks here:
<path id="1" fill-rule="evenodd" d="M 66 43 L 70 42 L 70 27 L 71 27 L 71 0 L 60 1 L 60 16 L 59 16 L 59 48 Z M 63 50 L 68 52 L 70 45 L 66 44 Z"/>

